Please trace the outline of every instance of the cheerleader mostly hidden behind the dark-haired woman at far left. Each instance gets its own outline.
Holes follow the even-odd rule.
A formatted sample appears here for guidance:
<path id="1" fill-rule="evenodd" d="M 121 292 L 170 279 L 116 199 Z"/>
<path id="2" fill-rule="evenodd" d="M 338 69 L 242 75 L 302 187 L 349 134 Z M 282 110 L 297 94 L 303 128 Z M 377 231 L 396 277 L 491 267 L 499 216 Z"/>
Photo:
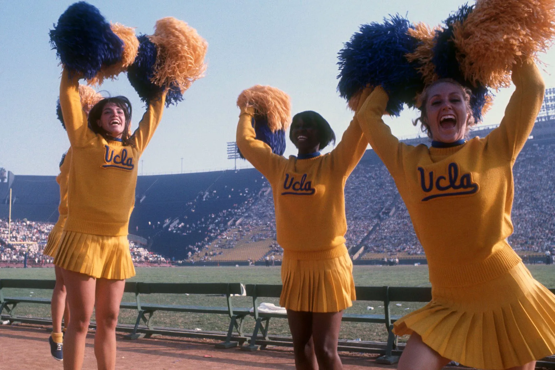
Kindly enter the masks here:
<path id="1" fill-rule="evenodd" d="M 68 178 L 69 178 L 69 164 L 71 162 L 71 148 L 62 156 L 60 161 L 60 173 L 56 177 L 56 182 L 60 186 L 60 204 L 58 206 L 58 222 L 48 234 L 48 241 L 44 247 L 43 255 L 56 257 L 58 252 L 58 245 L 62 229 L 65 225 L 65 220 L 68 216 Z M 50 353 L 52 357 L 58 361 L 63 360 L 63 332 L 62 332 L 62 318 L 64 326 L 67 328 L 69 323 L 69 307 L 65 301 L 65 285 L 62 271 L 58 266 L 54 266 L 54 273 L 56 273 L 56 285 L 52 292 L 51 310 L 52 310 L 52 334 L 48 338 L 50 343 Z"/>

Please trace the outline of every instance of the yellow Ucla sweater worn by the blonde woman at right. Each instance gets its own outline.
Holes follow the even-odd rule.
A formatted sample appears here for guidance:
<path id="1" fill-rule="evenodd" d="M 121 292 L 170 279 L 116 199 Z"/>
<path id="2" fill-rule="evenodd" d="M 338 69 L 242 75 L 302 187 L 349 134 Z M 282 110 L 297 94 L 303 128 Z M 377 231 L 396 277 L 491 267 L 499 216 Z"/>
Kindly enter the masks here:
<path id="1" fill-rule="evenodd" d="M 405 201 L 432 284 L 486 281 L 520 261 L 506 241 L 513 232 L 512 167 L 542 105 L 544 84 L 532 62 L 515 67 L 512 80 L 516 90 L 499 127 L 452 148 L 400 143 L 381 119 L 388 100 L 381 88 L 357 114 Z"/>

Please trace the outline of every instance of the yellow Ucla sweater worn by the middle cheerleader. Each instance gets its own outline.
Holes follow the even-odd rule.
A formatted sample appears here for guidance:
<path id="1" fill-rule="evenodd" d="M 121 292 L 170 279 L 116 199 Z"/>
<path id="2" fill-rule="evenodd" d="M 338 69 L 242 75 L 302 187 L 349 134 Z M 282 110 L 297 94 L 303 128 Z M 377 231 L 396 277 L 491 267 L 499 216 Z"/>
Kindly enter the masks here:
<path id="1" fill-rule="evenodd" d="M 310 159 L 286 159 L 255 139 L 253 115 L 251 108 L 241 111 L 237 146 L 272 186 L 278 243 L 286 251 L 309 252 L 343 245 L 347 231 L 345 181 L 367 146 L 359 123 L 356 119 L 351 121 L 331 153 Z"/>

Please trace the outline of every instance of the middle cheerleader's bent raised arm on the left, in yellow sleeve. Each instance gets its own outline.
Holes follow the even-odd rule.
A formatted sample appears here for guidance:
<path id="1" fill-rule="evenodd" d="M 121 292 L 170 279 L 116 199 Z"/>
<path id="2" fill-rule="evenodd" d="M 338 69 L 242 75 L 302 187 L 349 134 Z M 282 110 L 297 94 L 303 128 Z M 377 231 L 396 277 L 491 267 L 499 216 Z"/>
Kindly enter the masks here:
<path id="1" fill-rule="evenodd" d="M 272 149 L 268 144 L 256 139 L 256 132 L 252 124 L 253 118 L 254 108 L 247 107 L 241 109 L 239 123 L 237 124 L 237 147 L 245 159 L 266 176 L 266 179 L 271 184 L 274 177 L 278 174 L 280 163 L 286 161 L 286 159 L 272 153 Z"/>

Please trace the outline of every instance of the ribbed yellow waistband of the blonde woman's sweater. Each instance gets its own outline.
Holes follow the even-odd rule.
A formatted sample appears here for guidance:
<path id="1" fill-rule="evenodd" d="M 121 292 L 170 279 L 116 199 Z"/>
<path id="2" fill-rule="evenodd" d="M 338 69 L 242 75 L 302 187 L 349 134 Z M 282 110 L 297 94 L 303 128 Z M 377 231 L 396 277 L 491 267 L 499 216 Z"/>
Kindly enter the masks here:
<path id="1" fill-rule="evenodd" d="M 522 260 L 508 244 L 485 260 L 466 265 L 429 266 L 432 287 L 471 286 L 492 280 Z"/>

